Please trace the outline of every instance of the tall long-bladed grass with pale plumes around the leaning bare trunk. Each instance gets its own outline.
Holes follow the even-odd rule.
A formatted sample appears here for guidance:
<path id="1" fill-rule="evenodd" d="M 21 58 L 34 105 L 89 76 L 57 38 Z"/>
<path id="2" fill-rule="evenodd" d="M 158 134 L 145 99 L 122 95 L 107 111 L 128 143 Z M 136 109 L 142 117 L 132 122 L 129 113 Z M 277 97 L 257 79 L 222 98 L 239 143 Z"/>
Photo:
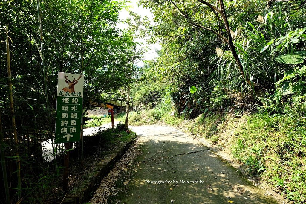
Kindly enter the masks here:
<path id="1" fill-rule="evenodd" d="M 238 27 L 235 32 L 235 46 L 239 58 L 244 66 L 245 74 L 253 83 L 261 87 L 270 88 L 277 79 L 282 77 L 285 66 L 280 66 L 274 61 L 279 54 L 290 50 L 288 47 L 280 53 L 275 50 L 274 42 L 270 40 L 285 36 L 291 31 L 285 12 L 274 8 L 267 13 L 261 21 L 247 23 L 244 27 Z M 267 49 L 263 49 L 267 46 Z M 239 70 L 231 53 L 217 48 L 217 55 L 210 60 L 211 76 L 228 89 L 246 92 L 248 84 L 239 76 Z"/>

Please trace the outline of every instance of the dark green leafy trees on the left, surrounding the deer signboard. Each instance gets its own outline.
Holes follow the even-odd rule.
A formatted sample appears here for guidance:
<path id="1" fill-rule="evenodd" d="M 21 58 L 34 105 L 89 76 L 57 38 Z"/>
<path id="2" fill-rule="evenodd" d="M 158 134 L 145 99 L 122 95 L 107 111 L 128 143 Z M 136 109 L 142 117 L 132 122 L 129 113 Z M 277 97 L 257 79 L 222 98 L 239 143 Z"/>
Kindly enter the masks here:
<path id="1" fill-rule="evenodd" d="M 22 154 L 21 175 L 24 175 L 21 197 L 25 199 L 22 202 L 41 203 L 48 198 L 54 200 L 61 196 L 59 191 L 52 193 L 52 188 L 58 184 L 54 178 L 59 177 L 61 166 L 55 161 L 51 167 L 45 167 L 47 164 L 43 161 L 41 146 L 46 139 L 52 138 L 52 134 L 48 132 L 54 129 L 58 71 L 84 74 L 84 114 L 92 101 L 101 103 L 112 97 L 117 98 L 119 88 L 135 81 L 129 77 L 129 65 L 134 63 L 132 58 L 141 58 L 141 54 L 135 55 L 134 52 L 137 44 L 133 39 L 134 32 L 117 27 L 120 21 L 118 14 L 124 8 L 124 1 L 108 0 L 17 0 L 0 3 L 0 28 L 6 28 L 7 25 L 10 32 L 18 148 Z M 39 17 L 42 47 L 38 46 Z M 6 39 L 5 33 L 1 32 L 0 37 L 2 40 Z M 16 169 L 12 165 L 15 160 L 12 157 L 13 152 L 9 150 L 12 149 L 12 118 L 7 103 L 9 92 L 5 54 L 6 50 L 2 49 L 0 131 L 4 133 L 6 160 L 10 164 L 7 169 L 11 178 L 10 195 L 17 199 L 14 194 L 20 192 L 15 188 Z M 42 59 L 46 71 L 43 70 Z M 45 88 L 48 100 L 45 99 Z M 48 119 L 52 121 L 51 127 L 46 122 Z M 54 154 L 59 156 L 60 151 L 61 149 L 55 148 Z M 40 194 L 39 197 L 33 192 Z"/>

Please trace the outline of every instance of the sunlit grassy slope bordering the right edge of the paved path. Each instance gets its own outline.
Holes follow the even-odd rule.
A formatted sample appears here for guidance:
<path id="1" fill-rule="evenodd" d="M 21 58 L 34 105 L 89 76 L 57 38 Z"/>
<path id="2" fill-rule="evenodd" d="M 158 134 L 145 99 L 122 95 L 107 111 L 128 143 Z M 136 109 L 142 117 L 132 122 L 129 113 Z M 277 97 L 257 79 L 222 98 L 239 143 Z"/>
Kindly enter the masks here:
<path id="1" fill-rule="evenodd" d="M 287 197 L 306 202 L 306 118 L 298 114 L 269 116 L 200 115 L 185 121 L 160 107 L 132 113 L 130 125 L 152 124 L 158 120 L 187 129 L 208 139 L 213 145 L 230 153 L 243 163 L 250 173 L 262 179 Z M 150 122 L 148 122 L 150 118 Z"/>

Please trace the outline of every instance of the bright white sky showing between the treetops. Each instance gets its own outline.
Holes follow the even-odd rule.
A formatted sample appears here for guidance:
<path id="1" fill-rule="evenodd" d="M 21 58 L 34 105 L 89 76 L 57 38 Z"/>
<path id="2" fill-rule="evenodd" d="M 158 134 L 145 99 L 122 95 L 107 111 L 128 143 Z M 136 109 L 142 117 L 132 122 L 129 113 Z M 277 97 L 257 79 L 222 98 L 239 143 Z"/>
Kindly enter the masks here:
<path id="1" fill-rule="evenodd" d="M 150 21 L 151 21 L 151 24 L 153 25 L 154 24 L 154 21 L 153 21 L 153 17 L 152 17 L 152 14 L 150 12 L 150 9 L 146 9 L 146 8 L 143 8 L 142 6 L 138 7 L 137 6 L 137 1 L 136 0 L 130 0 L 130 2 L 126 3 L 127 6 L 131 6 L 129 8 L 130 11 L 134 12 L 134 13 L 137 13 L 139 14 L 142 18 L 144 16 L 147 16 Z M 125 9 L 121 10 L 121 12 L 119 13 L 119 19 L 120 20 L 125 20 L 126 18 L 131 18 L 131 16 L 129 15 L 129 12 L 126 11 Z M 128 28 L 128 25 L 127 24 L 118 24 L 118 27 L 120 28 Z M 139 39 L 139 38 L 136 38 L 135 39 L 136 42 L 142 42 L 144 43 L 143 45 L 139 46 L 137 45 L 137 48 L 141 48 L 141 47 L 148 47 L 148 51 L 147 53 L 144 55 L 144 60 L 150 60 L 150 59 L 153 59 L 155 57 L 157 57 L 157 53 L 155 52 L 155 50 L 160 50 L 162 47 L 159 43 L 155 43 L 155 44 L 147 44 L 146 43 L 146 39 Z M 143 62 L 137 62 L 136 65 L 138 66 L 143 66 L 144 63 Z"/>

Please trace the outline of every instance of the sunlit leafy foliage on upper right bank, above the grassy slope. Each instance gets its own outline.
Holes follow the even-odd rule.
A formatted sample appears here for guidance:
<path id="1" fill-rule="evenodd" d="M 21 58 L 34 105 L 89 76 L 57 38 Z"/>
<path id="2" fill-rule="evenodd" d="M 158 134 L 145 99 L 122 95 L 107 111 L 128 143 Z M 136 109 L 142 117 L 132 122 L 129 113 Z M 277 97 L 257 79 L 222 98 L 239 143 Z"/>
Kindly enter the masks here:
<path id="1" fill-rule="evenodd" d="M 242 0 L 223 2 L 228 12 L 233 42 L 243 65 L 243 75 L 232 52 L 217 35 L 190 26 L 184 17 L 172 9 L 170 2 L 161 5 L 159 2 L 140 1 L 143 6 L 150 7 L 155 15 L 156 25 L 147 25 L 147 32 L 155 34 L 152 36 L 157 37 L 152 38 L 162 42 L 160 56 L 149 62 L 149 70 L 155 73 L 152 77 L 155 81 L 163 84 L 171 82 L 164 90 L 173 97 L 182 114 L 190 111 L 191 115 L 197 115 L 206 108 L 252 110 L 256 108 L 256 102 L 264 103 L 269 98 L 278 98 L 279 89 L 275 82 L 296 65 L 304 63 L 306 28 L 293 18 L 303 8 L 282 2 L 267 6 L 268 9 L 265 8 L 265 1 L 248 1 L 248 4 Z M 225 32 L 209 7 L 188 0 L 177 2 L 177 5 L 183 11 L 190 11 L 188 15 L 194 16 L 197 24 Z M 248 76 L 251 84 L 264 90 L 266 95 L 251 99 L 249 94 L 254 90 L 243 76 Z M 191 87 L 202 89 L 194 103 L 188 100 L 188 94 L 196 93 Z M 253 104 L 242 105 L 246 101 Z M 228 107 L 229 104 L 233 106 Z"/>

